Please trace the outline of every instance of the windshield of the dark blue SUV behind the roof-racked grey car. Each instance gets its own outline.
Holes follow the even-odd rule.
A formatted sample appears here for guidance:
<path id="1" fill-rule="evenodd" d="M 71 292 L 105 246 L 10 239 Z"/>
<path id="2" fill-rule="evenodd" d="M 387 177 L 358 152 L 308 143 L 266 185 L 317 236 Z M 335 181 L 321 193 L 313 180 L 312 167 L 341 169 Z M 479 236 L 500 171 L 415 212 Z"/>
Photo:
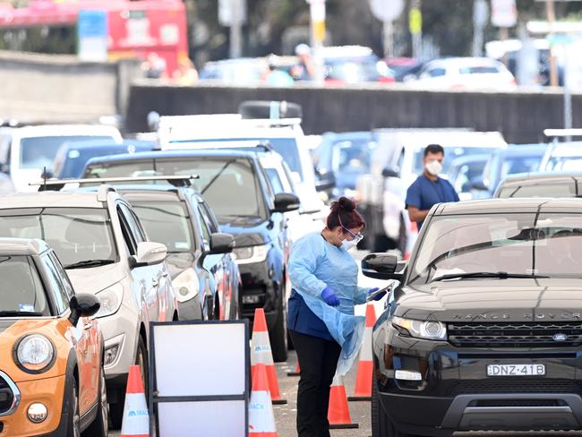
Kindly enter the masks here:
<path id="1" fill-rule="evenodd" d="M 193 187 L 204 195 L 218 218 L 266 218 L 261 183 L 249 159 L 181 157 L 91 166 L 86 177 L 198 175 Z M 147 184 L 147 183 L 146 183 Z M 164 182 L 164 184 L 167 184 Z"/>

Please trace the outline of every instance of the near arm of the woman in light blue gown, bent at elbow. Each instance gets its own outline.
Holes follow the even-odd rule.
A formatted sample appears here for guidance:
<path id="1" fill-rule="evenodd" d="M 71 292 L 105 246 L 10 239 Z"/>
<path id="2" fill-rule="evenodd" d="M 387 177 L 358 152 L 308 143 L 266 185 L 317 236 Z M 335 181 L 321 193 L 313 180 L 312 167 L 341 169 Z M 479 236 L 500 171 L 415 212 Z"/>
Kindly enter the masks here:
<path id="1" fill-rule="evenodd" d="M 293 245 L 288 264 L 291 285 L 315 297 L 321 296 L 321 292 L 328 287 L 325 282 L 313 275 L 323 252 L 322 243 L 313 238 L 298 240 Z"/>

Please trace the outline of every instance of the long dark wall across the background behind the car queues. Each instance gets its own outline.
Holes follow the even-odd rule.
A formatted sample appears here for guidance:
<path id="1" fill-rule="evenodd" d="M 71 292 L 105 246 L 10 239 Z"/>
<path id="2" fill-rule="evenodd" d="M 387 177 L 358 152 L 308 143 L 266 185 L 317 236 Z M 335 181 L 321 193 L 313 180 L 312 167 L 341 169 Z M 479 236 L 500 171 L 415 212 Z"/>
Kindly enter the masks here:
<path id="1" fill-rule="evenodd" d="M 368 86 L 349 89 L 167 87 L 139 81 L 132 87 L 126 128 L 147 129 L 151 110 L 161 115 L 233 113 L 248 99 L 283 99 L 304 108 L 306 133 L 377 127 L 470 127 L 501 131 L 510 142 L 543 140 L 543 129 L 563 126 L 560 91 L 514 93 L 431 92 Z M 573 98 L 574 127 L 582 127 L 582 95 Z"/>

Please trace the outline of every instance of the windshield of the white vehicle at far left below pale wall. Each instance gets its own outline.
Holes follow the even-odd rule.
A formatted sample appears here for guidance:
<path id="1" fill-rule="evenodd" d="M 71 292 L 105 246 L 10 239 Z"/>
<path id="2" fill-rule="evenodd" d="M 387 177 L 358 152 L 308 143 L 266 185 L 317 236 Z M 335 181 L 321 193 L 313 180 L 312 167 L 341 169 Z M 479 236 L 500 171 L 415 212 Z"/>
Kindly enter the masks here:
<path id="1" fill-rule="evenodd" d="M 104 140 L 112 141 L 110 136 L 59 135 L 30 137 L 21 139 L 21 168 L 44 168 L 53 170 L 56 153 L 65 142 Z"/>

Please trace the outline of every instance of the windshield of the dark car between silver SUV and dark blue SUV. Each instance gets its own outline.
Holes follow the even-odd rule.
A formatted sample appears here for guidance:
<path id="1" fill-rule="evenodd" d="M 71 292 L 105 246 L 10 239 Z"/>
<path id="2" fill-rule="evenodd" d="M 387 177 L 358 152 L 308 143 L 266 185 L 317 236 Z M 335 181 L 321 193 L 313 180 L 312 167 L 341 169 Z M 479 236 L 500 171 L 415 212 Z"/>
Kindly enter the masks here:
<path id="1" fill-rule="evenodd" d="M 166 244 L 168 253 L 192 253 L 192 225 L 183 201 L 132 201 L 152 241 Z"/>

